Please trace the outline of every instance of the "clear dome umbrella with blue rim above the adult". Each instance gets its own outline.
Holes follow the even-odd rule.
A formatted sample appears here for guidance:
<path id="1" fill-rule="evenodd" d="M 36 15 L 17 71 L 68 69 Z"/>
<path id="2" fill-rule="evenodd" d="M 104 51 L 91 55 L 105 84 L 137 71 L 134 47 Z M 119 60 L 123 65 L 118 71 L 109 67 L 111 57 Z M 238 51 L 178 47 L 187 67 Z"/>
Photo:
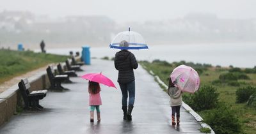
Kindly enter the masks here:
<path id="1" fill-rule="evenodd" d="M 127 45 L 122 45 L 122 41 L 127 41 Z M 116 34 L 115 38 L 111 41 L 110 48 L 118 48 L 118 49 L 146 49 L 148 48 L 145 40 L 141 34 L 130 31 L 124 31 L 121 33 Z"/>

